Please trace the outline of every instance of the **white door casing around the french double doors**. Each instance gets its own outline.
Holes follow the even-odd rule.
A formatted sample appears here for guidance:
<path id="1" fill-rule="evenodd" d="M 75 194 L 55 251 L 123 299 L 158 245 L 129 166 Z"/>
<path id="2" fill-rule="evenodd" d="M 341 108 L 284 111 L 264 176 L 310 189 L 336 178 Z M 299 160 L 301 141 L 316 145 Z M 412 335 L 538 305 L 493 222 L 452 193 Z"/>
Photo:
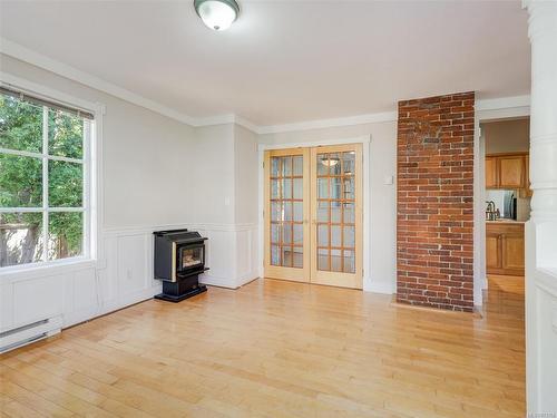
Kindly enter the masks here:
<path id="1" fill-rule="evenodd" d="M 371 283 L 371 233 L 373 225 L 371 223 L 371 176 L 370 176 L 370 156 L 371 156 L 371 135 L 364 135 L 352 138 L 340 138 L 340 139 L 324 139 L 324 140 L 313 140 L 313 142 L 300 142 L 300 143 L 281 143 L 281 144 L 258 144 L 258 231 L 257 231 L 257 265 L 260 266 L 260 278 L 264 278 L 264 254 L 265 254 L 265 221 L 263 217 L 263 211 L 265 208 L 265 171 L 263 168 L 263 163 L 265 161 L 265 150 L 272 149 L 286 149 L 286 148 L 299 148 L 299 147 L 317 147 L 317 146 L 330 146 L 330 145 L 344 145 L 344 144 L 362 144 L 362 201 L 363 201 L 363 213 L 362 213 L 362 289 L 363 291 L 372 291 Z"/>

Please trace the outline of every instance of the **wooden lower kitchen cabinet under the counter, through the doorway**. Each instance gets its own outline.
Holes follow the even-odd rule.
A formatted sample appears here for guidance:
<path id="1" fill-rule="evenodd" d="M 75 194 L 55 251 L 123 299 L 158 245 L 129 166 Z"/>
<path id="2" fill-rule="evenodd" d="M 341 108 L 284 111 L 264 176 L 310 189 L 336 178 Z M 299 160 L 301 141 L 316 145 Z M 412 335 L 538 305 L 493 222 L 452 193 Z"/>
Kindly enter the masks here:
<path id="1" fill-rule="evenodd" d="M 524 223 L 486 224 L 486 268 L 488 274 L 524 275 Z"/>

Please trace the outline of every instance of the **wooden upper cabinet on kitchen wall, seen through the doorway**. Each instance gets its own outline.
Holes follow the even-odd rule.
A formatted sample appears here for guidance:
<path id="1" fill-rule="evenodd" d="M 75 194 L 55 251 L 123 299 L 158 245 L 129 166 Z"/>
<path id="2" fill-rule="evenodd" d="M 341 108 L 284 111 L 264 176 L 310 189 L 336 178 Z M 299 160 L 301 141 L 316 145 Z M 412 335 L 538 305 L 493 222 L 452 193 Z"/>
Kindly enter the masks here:
<path id="1" fill-rule="evenodd" d="M 486 156 L 486 188 L 528 189 L 527 153 Z"/>

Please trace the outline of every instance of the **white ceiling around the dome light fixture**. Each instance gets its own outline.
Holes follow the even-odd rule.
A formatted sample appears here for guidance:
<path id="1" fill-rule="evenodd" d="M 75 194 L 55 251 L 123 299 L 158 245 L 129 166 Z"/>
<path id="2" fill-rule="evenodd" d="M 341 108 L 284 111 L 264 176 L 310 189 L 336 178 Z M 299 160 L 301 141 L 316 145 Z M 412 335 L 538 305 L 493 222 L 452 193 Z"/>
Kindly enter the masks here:
<path id="1" fill-rule="evenodd" d="M 276 125 L 529 93 L 519 0 L 241 1 L 224 32 L 193 0 L 0 4 L 3 38 L 193 117 Z"/>

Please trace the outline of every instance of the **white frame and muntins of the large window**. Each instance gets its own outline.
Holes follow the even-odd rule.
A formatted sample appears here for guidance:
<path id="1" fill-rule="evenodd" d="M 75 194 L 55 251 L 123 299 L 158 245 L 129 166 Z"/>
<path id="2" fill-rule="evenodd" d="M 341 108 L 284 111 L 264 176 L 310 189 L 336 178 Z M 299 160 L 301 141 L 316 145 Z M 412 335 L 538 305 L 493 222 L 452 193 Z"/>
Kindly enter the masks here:
<path id="1" fill-rule="evenodd" d="M 105 106 L 102 104 L 94 104 L 70 95 L 50 89 L 48 87 L 21 79 L 7 72 L 0 72 L 0 82 L 12 89 L 18 89 L 31 96 L 42 98 L 48 101 L 58 103 L 61 105 L 76 107 L 78 109 L 87 110 L 94 115 L 92 120 L 84 124 L 84 155 L 82 158 L 69 158 L 55 155 L 48 155 L 48 111 L 43 110 L 43 129 L 42 129 L 42 149 L 40 153 L 0 148 L 0 153 L 40 158 L 42 161 L 42 206 L 40 207 L 1 207 L 0 212 L 3 213 L 42 213 L 42 233 L 43 233 L 43 255 L 41 261 L 17 264 L 0 268 L 0 276 L 11 275 L 19 271 L 37 270 L 42 268 L 52 268 L 59 265 L 75 265 L 81 262 L 92 262 L 98 259 L 99 254 L 99 233 L 100 225 L 102 224 L 102 204 L 100 202 L 101 193 L 101 161 L 99 158 L 100 144 L 101 144 L 101 127 L 102 115 L 105 114 Z M 48 108 L 48 106 L 46 106 Z M 45 107 L 43 107 L 45 109 Z M 49 207 L 48 206 L 48 162 L 62 161 L 69 163 L 82 164 L 82 182 L 84 194 L 81 207 Z M 45 164 L 46 163 L 46 164 Z M 84 241 L 81 255 L 48 260 L 48 214 L 53 212 L 80 212 L 82 213 L 84 221 Z"/>

